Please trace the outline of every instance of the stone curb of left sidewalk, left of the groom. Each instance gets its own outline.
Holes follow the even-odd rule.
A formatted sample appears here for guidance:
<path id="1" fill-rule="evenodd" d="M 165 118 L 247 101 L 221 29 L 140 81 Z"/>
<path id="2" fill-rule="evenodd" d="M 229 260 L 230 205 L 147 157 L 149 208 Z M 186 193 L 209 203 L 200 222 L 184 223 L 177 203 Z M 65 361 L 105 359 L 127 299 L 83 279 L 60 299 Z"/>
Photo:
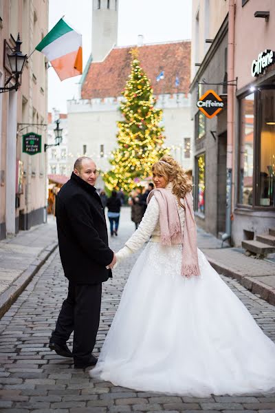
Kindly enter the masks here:
<path id="1" fill-rule="evenodd" d="M 14 280 L 12 285 L 0 294 L 0 319 L 8 311 L 10 306 L 12 306 L 14 301 L 17 300 L 22 291 L 25 290 L 26 286 L 32 281 L 34 275 L 36 275 L 41 266 L 45 264 L 57 246 L 58 242 L 46 246 L 32 264 L 30 264 L 28 268 Z"/>

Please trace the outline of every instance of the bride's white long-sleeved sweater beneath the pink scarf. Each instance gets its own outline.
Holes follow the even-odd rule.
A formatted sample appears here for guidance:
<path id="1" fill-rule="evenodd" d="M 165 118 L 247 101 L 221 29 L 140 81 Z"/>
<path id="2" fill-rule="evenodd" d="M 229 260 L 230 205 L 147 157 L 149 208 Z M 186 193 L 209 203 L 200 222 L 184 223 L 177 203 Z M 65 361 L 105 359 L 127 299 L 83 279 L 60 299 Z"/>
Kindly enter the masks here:
<path id="1" fill-rule="evenodd" d="M 169 184 L 167 185 L 166 189 L 171 189 Z M 181 233 L 183 233 L 185 212 L 184 209 L 178 204 L 178 202 L 177 210 L 179 211 Z M 142 247 L 144 242 L 150 240 L 150 238 L 153 242 L 160 242 L 159 204 L 157 203 L 155 196 L 153 196 L 148 203 L 148 207 L 146 209 L 146 212 L 144 213 L 142 222 L 140 222 L 140 226 L 125 243 L 125 246 L 121 248 L 118 253 L 115 253 L 117 262 L 119 263 L 126 257 L 129 257 L 129 255 L 131 255 L 132 253 L 135 253 Z"/>

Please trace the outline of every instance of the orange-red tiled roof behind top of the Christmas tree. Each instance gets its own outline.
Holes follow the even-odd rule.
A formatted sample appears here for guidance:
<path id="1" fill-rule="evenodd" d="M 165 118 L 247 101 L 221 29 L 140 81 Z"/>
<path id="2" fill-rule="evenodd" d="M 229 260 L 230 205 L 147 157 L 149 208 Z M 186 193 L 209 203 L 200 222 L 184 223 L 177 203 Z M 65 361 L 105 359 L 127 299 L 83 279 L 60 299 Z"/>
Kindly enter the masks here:
<path id="1" fill-rule="evenodd" d="M 153 86 L 155 95 L 188 93 L 190 85 L 190 41 L 159 43 L 138 47 L 140 65 Z M 115 47 L 106 59 L 91 63 L 83 82 L 83 99 L 118 97 L 131 72 L 133 47 Z M 157 75 L 164 70 L 164 79 L 157 82 Z M 175 78 L 179 77 L 179 87 Z"/>

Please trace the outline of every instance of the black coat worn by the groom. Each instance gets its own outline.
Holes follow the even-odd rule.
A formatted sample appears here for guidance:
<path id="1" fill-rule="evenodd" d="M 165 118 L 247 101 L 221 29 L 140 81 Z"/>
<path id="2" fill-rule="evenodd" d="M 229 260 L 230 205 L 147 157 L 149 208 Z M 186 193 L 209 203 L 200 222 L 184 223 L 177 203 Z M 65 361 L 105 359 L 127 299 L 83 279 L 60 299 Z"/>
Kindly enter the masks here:
<path id="1" fill-rule="evenodd" d="M 96 188 L 74 172 L 56 199 L 58 244 L 65 277 L 77 284 L 97 284 L 111 277 L 113 260 L 107 226 Z"/>

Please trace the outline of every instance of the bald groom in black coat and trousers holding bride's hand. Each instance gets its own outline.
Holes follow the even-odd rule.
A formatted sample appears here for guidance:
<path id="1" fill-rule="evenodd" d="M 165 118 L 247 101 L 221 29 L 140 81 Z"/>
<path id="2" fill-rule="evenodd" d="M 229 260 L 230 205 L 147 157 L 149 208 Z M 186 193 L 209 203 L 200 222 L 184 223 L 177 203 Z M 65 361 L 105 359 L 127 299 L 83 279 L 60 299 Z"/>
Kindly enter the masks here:
<path id="1" fill-rule="evenodd" d="M 69 286 L 49 346 L 63 357 L 74 357 L 75 368 L 96 364 L 91 352 L 99 326 L 102 282 L 111 277 L 115 264 L 95 183 L 94 161 L 78 158 L 56 202 L 59 252 Z M 73 331 L 71 353 L 66 341 Z"/>

